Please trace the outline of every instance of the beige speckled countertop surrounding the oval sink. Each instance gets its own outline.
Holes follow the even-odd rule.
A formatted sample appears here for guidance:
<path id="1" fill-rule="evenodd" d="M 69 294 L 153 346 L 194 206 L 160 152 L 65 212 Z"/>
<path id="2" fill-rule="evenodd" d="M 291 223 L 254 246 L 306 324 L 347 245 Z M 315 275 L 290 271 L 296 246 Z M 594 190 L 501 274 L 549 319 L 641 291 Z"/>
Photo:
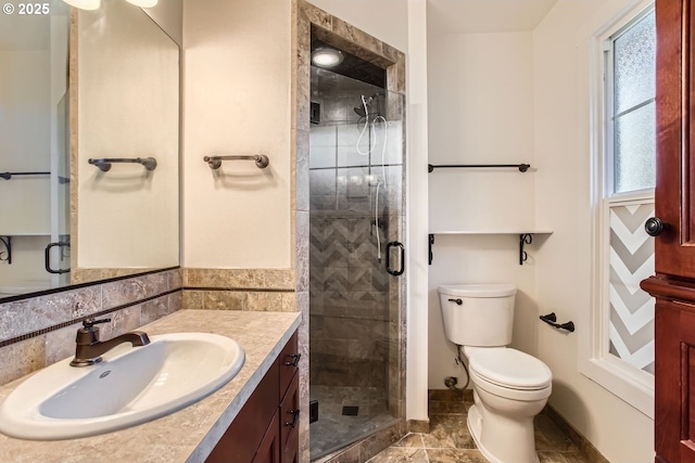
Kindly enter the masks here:
<path id="1" fill-rule="evenodd" d="M 243 368 L 211 396 L 138 426 L 70 440 L 22 440 L 0 434 L 0 462 L 202 462 L 300 323 L 300 313 L 180 310 L 142 326 L 148 334 L 204 332 L 236 339 Z M 25 378 L 0 387 L 0 400 Z M 88 407 L 89 404 L 85 404 Z"/>

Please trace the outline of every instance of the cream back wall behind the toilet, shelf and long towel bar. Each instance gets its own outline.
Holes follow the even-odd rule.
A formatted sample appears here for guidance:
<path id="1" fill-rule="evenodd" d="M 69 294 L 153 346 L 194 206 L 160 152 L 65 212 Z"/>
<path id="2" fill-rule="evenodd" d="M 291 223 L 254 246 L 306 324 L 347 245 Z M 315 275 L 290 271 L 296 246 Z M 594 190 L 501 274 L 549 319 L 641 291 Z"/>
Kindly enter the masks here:
<path id="1" fill-rule="evenodd" d="M 533 43 L 531 33 L 428 35 L 429 163 L 531 164 L 516 169 L 435 169 L 429 173 L 429 387 L 466 374 L 444 336 L 442 284 L 513 283 L 518 288 L 513 345 L 534 353 L 535 247 L 519 266 L 519 234 L 533 231 Z"/>

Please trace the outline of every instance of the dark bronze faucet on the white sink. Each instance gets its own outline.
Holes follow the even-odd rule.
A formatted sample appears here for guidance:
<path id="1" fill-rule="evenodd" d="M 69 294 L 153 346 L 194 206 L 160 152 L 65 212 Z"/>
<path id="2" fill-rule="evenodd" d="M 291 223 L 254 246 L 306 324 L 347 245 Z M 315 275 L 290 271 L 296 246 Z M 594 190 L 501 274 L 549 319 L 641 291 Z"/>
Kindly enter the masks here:
<path id="1" fill-rule="evenodd" d="M 141 331 L 131 331 L 104 342 L 99 340 L 99 326 L 94 325 L 110 321 L 111 319 L 87 319 L 83 321 L 83 327 L 77 330 L 77 338 L 75 339 L 77 347 L 75 349 L 75 358 L 70 362 L 71 366 L 88 366 L 99 363 L 103 353 L 123 343 L 130 343 L 132 346 L 147 346 L 150 344 L 147 333 Z"/>

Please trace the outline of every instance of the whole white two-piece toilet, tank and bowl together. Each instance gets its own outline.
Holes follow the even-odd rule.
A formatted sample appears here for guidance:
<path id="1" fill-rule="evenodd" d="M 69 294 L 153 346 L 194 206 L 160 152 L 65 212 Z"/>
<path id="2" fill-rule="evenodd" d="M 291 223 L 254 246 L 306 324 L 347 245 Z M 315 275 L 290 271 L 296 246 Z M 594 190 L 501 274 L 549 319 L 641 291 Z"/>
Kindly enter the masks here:
<path id="1" fill-rule="evenodd" d="M 545 363 L 506 347 L 516 292 L 511 284 L 439 287 L 446 338 L 468 360 L 473 388 L 468 429 L 492 463 L 538 463 L 533 417 L 553 389 Z"/>

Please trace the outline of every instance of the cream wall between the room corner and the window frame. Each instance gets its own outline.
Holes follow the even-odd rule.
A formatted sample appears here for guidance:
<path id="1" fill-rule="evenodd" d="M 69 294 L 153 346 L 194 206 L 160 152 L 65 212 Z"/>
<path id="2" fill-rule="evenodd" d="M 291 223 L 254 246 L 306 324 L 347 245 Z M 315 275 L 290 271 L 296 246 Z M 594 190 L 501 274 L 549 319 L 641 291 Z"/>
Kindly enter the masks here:
<path id="1" fill-rule="evenodd" d="M 536 256 L 538 305 L 573 320 L 567 335 L 539 329 L 539 356 L 553 371 L 549 403 L 612 462 L 654 459 L 654 423 L 578 371 L 591 292 L 590 37 L 631 2 L 560 0 L 534 42 L 538 222 L 555 232 Z"/>

